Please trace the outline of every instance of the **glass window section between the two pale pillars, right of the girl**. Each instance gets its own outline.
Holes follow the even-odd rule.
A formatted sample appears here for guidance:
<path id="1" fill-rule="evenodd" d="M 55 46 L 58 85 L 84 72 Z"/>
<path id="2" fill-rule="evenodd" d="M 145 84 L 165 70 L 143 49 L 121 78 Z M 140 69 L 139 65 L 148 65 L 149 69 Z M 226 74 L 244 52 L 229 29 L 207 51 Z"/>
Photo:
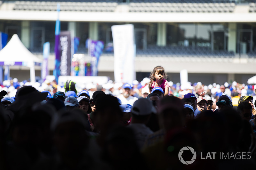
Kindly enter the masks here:
<path id="1" fill-rule="evenodd" d="M 167 45 L 223 50 L 224 34 L 222 25 L 172 23 L 167 25 Z"/>

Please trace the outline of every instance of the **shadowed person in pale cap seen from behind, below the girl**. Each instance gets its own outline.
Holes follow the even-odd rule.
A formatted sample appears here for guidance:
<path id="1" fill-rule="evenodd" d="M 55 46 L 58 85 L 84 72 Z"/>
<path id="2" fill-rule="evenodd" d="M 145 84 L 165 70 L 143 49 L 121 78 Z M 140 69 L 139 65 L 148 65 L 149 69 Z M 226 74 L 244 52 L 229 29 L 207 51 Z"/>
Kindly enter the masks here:
<path id="1" fill-rule="evenodd" d="M 146 124 L 151 113 L 156 113 L 156 109 L 151 101 L 140 98 L 134 102 L 131 111 L 132 122 L 127 127 L 133 130 L 136 142 L 139 148 L 142 149 L 148 135 L 153 134 L 153 131 Z"/>

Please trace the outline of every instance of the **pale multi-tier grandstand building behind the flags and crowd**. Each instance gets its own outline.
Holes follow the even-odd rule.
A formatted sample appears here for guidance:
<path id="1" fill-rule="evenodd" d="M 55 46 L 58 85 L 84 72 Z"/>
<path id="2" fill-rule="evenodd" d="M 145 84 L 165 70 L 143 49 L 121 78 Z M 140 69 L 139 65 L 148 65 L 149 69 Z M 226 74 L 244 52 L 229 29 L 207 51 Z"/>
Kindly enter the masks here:
<path id="1" fill-rule="evenodd" d="M 9 39 L 18 34 L 23 44 L 42 58 L 50 42 L 49 69 L 54 69 L 55 21 L 60 3 L 60 29 L 79 37 L 77 53 L 87 54 L 87 38 L 111 46 L 111 26 L 133 24 L 137 80 L 156 65 L 168 81 L 247 83 L 256 74 L 256 2 L 250 0 L 24 0 L 0 1 L 0 31 Z M 109 49 L 109 48 L 108 48 Z M 114 54 L 104 49 L 99 76 L 114 80 Z M 1 56 L 0 56 L 1 57 Z M 22 57 L 22 56 L 21 56 Z M 20 68 L 11 77 L 22 77 Z M 27 70 L 29 71 L 29 70 Z M 25 75 L 27 72 L 23 70 Z M 29 75 L 29 73 L 28 73 Z M 40 76 L 40 70 L 36 70 Z"/>

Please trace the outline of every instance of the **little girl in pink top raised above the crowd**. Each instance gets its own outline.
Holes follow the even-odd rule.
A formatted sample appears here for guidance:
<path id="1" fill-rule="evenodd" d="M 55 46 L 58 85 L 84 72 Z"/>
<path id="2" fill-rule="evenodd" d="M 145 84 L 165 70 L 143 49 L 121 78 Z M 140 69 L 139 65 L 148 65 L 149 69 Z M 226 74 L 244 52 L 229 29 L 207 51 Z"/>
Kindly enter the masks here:
<path id="1" fill-rule="evenodd" d="M 153 69 L 153 72 L 150 73 L 150 81 L 148 84 L 149 92 L 151 93 L 151 90 L 154 87 L 161 87 L 165 95 L 169 95 L 169 83 L 166 80 L 167 74 L 164 73 L 164 68 L 161 66 L 156 66 Z"/>

